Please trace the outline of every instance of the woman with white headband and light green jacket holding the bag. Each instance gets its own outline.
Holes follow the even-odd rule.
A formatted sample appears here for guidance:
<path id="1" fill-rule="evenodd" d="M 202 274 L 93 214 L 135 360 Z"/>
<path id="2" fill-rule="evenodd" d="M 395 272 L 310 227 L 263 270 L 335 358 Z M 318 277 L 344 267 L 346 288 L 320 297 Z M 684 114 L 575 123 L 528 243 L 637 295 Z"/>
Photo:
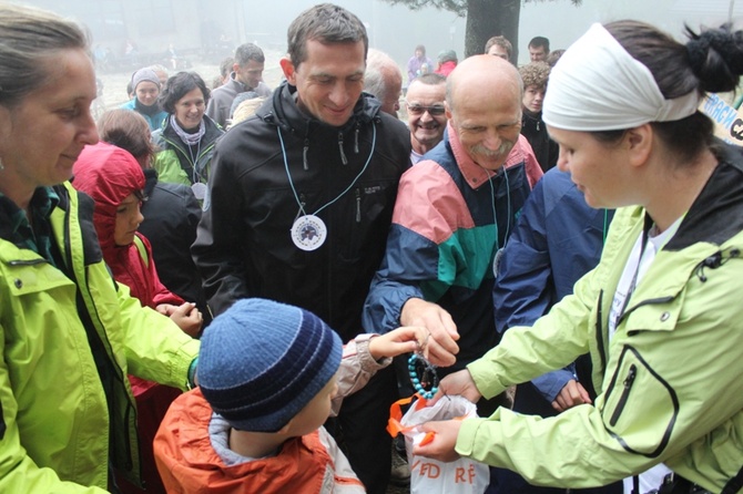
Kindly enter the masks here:
<path id="1" fill-rule="evenodd" d="M 588 204 L 619 208 L 603 257 L 573 296 L 439 385 L 477 401 L 590 352 L 596 402 L 431 422 L 415 454 L 571 488 L 663 463 L 658 492 L 743 492 L 743 152 L 698 111 L 705 92 L 736 88 L 743 31 L 688 34 L 596 24 L 560 59 L 542 116 Z"/>

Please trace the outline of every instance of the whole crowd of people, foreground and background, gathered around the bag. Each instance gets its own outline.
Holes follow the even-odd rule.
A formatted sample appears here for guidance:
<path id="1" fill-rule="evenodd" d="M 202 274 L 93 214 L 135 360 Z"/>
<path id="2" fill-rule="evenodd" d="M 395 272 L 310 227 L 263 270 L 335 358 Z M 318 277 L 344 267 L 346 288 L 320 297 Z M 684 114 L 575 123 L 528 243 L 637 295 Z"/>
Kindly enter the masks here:
<path id="1" fill-rule="evenodd" d="M 322 3 L 276 88 L 171 45 L 94 122 L 106 51 L 0 6 L 0 492 L 384 494 L 411 356 L 479 418 L 409 452 L 487 492 L 743 492 L 743 32 L 686 35 L 404 72 Z"/>

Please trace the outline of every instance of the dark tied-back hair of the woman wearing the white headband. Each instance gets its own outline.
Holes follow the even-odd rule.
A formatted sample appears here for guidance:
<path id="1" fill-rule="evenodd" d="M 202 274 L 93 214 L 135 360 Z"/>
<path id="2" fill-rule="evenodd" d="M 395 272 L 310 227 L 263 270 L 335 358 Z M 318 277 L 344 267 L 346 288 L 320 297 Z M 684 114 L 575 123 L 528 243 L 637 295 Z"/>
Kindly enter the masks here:
<path id="1" fill-rule="evenodd" d="M 743 31 L 730 24 L 705 29 L 699 34 L 686 27 L 689 42 L 679 43 L 669 34 L 639 21 L 617 21 L 605 25 L 611 35 L 652 73 L 666 99 L 696 91 L 732 91 L 743 73 Z M 712 121 L 701 112 L 675 122 L 652 122 L 659 137 L 679 155 L 696 156 L 712 142 Z"/>

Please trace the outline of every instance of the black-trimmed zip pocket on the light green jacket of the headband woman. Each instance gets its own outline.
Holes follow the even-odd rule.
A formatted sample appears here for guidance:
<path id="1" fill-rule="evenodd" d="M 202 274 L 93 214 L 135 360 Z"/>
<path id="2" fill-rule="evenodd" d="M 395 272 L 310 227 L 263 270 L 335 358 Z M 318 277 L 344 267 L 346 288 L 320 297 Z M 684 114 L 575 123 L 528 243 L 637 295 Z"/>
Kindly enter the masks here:
<path id="1" fill-rule="evenodd" d="M 678 415 L 673 388 L 635 348 L 625 346 L 602 408 L 609 433 L 627 451 L 655 457 L 668 445 Z"/>

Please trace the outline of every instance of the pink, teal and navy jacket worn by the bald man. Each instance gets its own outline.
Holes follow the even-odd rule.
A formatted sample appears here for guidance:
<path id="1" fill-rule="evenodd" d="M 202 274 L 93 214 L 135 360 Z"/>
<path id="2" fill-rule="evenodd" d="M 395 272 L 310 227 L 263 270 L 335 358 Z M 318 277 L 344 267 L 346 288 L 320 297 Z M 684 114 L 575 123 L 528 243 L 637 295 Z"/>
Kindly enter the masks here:
<path id="1" fill-rule="evenodd" d="M 387 249 L 364 307 L 364 328 L 400 326 L 410 298 L 436 302 L 454 318 L 464 368 L 498 342 L 493 259 L 542 171 L 523 136 L 498 172 L 477 165 L 451 127 L 400 184 Z M 497 220 L 496 220 L 497 219 Z"/>

